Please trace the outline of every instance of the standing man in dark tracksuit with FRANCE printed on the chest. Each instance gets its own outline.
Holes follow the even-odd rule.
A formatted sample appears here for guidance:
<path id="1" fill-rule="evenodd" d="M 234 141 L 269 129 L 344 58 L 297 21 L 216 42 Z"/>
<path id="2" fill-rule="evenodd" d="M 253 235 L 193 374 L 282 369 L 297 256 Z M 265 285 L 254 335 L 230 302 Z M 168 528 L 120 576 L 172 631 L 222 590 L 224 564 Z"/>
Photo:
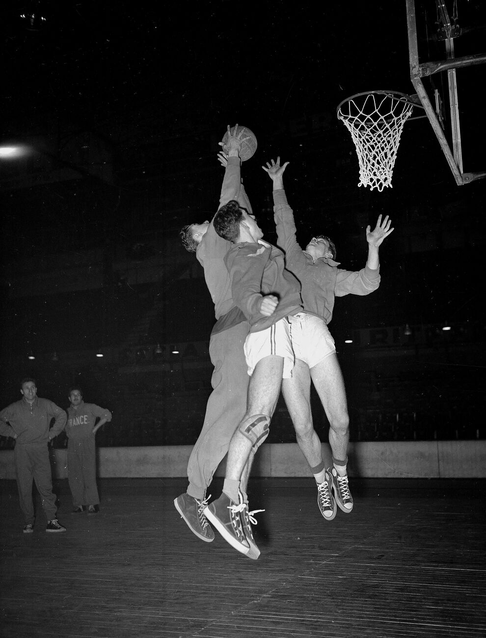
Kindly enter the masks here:
<path id="1" fill-rule="evenodd" d="M 112 414 L 94 403 L 84 403 L 80 387 L 73 386 L 69 391 L 68 408 L 68 481 L 73 496 L 73 514 L 84 511 L 88 514 L 98 512 L 99 496 L 96 487 L 96 431 Z M 99 419 L 96 423 L 96 419 Z"/>

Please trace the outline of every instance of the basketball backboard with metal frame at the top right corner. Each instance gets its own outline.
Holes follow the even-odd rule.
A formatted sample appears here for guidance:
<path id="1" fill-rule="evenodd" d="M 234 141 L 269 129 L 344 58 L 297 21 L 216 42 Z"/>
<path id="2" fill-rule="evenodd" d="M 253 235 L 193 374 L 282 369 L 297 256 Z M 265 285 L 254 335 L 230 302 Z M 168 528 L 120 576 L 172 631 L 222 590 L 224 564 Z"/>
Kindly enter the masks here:
<path id="1" fill-rule="evenodd" d="M 459 186 L 486 177 L 483 151 L 475 152 L 485 110 L 485 5 L 406 0 L 410 79 Z"/>

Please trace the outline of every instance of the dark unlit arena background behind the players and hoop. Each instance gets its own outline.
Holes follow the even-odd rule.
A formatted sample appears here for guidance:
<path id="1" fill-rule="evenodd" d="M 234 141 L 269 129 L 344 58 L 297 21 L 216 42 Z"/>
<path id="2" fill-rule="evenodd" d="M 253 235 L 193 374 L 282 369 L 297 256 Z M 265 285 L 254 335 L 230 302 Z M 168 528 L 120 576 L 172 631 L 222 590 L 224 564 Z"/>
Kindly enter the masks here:
<path id="1" fill-rule="evenodd" d="M 431 29 L 434 3 L 417 5 L 420 29 L 425 9 Z M 457 6 L 460 24 L 486 24 L 482 3 Z M 388 214 L 395 227 L 380 249 L 378 292 L 337 300 L 331 324 L 353 436 L 483 436 L 486 182 L 457 186 L 431 125 L 414 119 L 393 188 L 358 188 L 355 149 L 335 115 L 361 91 L 413 93 L 404 1 L 13 1 L 0 25 L 0 142 L 31 149 L 0 163 L 3 405 L 20 396 L 26 374 L 61 405 L 81 382 L 88 401 L 114 413 L 100 443 L 195 440 L 214 308 L 178 232 L 216 210 L 217 142 L 239 122 L 258 138 L 242 176 L 269 241 L 261 165 L 277 154 L 290 161 L 284 180 L 300 242 L 330 235 L 354 270 L 365 262 L 366 226 Z M 483 39 L 477 28 L 457 38 L 456 55 L 482 53 Z M 433 38 L 420 46 L 426 59 L 443 56 Z M 457 78 L 464 171 L 486 170 L 485 66 Z M 393 327 L 396 339 L 343 345 L 350 333 Z M 186 344 L 179 356 L 170 353 L 177 343 Z M 272 436 L 290 440 L 281 405 L 274 422 Z"/>

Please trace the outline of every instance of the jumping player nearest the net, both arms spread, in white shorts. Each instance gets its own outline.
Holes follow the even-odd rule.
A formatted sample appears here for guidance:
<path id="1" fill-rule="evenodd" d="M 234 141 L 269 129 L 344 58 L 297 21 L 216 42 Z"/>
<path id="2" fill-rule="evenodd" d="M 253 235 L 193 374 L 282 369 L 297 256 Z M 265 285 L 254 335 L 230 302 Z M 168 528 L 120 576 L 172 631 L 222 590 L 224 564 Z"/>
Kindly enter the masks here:
<path id="1" fill-rule="evenodd" d="M 286 268 L 302 285 L 304 313 L 291 318 L 291 336 L 295 366 L 291 378 L 283 380 L 282 392 L 290 413 L 297 441 L 306 456 L 318 484 L 318 505 L 325 519 L 334 519 L 337 508 L 349 513 L 353 498 L 348 484 L 348 442 L 350 438 L 348 406 L 341 367 L 334 339 L 327 324 L 332 318 L 334 297 L 367 295 L 379 286 L 378 249 L 394 230 L 388 216 L 381 215 L 373 231 L 366 229 L 368 258 L 364 269 L 344 271 L 335 262 L 335 246 L 328 237 L 313 237 L 305 251 L 295 238 L 293 212 L 283 190 L 283 173 L 288 162 L 280 166 L 280 158 L 267 167 L 274 183 L 274 219 L 277 245 L 285 252 Z M 329 443 L 332 468 L 325 468 L 321 441 L 314 430 L 311 415 L 311 380 L 314 383 L 329 421 Z M 333 497 L 334 492 L 334 497 Z"/>

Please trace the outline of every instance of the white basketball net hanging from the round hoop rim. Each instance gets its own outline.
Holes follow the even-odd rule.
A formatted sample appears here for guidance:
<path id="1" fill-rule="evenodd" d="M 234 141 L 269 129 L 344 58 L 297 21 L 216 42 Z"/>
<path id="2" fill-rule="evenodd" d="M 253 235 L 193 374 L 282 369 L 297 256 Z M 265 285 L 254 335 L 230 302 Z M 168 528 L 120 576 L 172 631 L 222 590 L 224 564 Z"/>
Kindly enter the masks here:
<path id="1" fill-rule="evenodd" d="M 358 154 L 358 186 L 380 192 L 385 186 L 392 188 L 400 136 L 412 110 L 411 103 L 392 93 L 354 96 L 339 107 L 337 117 L 350 131 Z"/>

